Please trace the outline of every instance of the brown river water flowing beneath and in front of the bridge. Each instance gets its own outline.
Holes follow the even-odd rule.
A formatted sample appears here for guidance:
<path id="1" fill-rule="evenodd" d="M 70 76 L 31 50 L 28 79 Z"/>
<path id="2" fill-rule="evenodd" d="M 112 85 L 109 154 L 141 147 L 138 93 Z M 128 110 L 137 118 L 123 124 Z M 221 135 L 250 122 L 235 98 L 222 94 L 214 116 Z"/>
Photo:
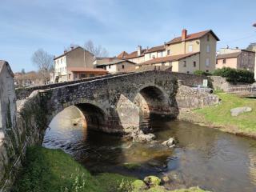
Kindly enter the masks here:
<path id="1" fill-rule="evenodd" d="M 113 172 L 144 178 L 169 178 L 167 189 L 200 186 L 218 192 L 256 191 L 256 140 L 226 134 L 189 122 L 152 120 L 155 144 L 123 141 L 73 126 L 74 107 L 58 114 L 46 131 L 43 146 L 62 149 L 91 173 Z M 174 137 L 177 146 L 161 142 Z M 134 165 L 132 169 L 127 165 Z"/>

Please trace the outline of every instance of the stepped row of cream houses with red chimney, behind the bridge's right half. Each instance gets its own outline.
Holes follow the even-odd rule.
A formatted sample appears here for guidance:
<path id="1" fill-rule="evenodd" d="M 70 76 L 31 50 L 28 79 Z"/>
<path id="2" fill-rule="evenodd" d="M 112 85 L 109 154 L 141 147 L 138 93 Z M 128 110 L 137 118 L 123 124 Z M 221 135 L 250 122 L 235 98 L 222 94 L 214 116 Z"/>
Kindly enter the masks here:
<path id="1" fill-rule="evenodd" d="M 138 64 L 137 66 L 170 65 L 173 66 L 173 70 L 178 70 L 177 72 L 193 73 L 195 69 L 210 72 L 215 69 L 216 44 L 218 41 L 218 37 L 212 30 L 187 34 L 187 30 L 184 29 L 182 35 L 178 38 L 173 38 L 169 42 L 150 49 L 142 49 L 142 46 L 138 46 L 137 51 L 124 55 L 122 59 L 135 62 Z M 122 56 L 122 54 L 118 56 Z M 177 56 L 180 60 L 176 60 L 176 58 L 173 60 L 172 56 Z M 158 60 L 153 61 L 156 58 Z M 181 60 L 188 65 L 186 68 L 179 66 Z M 184 63 L 183 66 L 185 66 Z"/>

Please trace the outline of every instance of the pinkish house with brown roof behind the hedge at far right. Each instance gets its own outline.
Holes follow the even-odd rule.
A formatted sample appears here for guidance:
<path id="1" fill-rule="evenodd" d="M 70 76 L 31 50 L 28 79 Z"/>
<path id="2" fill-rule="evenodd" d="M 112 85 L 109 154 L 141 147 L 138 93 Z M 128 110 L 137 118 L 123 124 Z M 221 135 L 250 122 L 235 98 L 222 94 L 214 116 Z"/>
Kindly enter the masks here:
<path id="1" fill-rule="evenodd" d="M 230 67 L 254 72 L 255 52 L 241 49 L 221 49 L 216 57 L 216 68 Z"/>

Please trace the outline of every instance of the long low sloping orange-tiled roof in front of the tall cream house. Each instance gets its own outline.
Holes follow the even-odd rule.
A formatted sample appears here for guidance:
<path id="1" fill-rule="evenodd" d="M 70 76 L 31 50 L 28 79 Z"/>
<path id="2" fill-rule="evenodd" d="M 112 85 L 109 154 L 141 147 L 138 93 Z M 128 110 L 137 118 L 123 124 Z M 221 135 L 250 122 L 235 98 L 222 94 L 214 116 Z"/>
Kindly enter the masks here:
<path id="1" fill-rule="evenodd" d="M 167 57 L 162 57 L 162 58 L 153 58 L 149 61 L 138 63 L 137 65 L 141 66 L 141 65 L 150 65 L 150 64 L 154 64 L 154 63 L 160 63 L 160 62 L 175 62 L 182 58 L 187 58 L 187 57 L 193 56 L 198 53 L 199 52 L 194 52 L 194 53 L 190 53 L 190 54 L 177 54 L 177 55 L 167 56 Z"/>

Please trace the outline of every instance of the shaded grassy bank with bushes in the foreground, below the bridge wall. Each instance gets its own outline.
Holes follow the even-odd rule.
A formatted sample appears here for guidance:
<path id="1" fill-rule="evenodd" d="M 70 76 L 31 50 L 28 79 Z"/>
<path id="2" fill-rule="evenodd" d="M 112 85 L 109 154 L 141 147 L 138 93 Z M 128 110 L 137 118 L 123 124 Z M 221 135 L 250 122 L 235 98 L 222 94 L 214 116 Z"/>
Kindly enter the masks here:
<path id="1" fill-rule="evenodd" d="M 12 192 L 167 192 L 157 177 L 144 181 L 120 174 L 91 175 L 62 150 L 30 147 Z M 198 187 L 173 192 L 203 192 Z"/>

